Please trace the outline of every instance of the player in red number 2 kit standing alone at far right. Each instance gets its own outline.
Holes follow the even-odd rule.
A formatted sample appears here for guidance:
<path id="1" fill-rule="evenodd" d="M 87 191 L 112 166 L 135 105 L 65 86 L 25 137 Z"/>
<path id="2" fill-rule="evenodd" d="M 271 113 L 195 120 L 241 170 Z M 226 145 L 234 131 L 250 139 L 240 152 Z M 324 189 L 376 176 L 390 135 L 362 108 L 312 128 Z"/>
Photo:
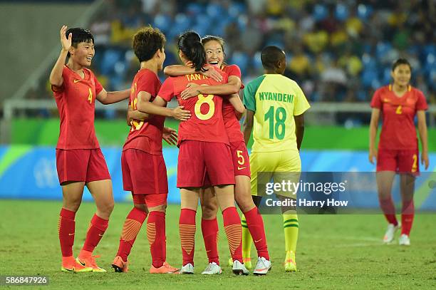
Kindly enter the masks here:
<path id="1" fill-rule="evenodd" d="M 419 152 L 416 130 L 413 119 L 417 115 L 417 127 L 422 146 L 421 162 L 428 168 L 427 125 L 425 110 L 427 102 L 420 90 L 410 86 L 410 63 L 400 58 L 393 64 L 393 84 L 375 91 L 371 107 L 373 113 L 370 121 L 369 160 L 377 160 L 377 185 L 380 207 L 388 219 L 388 230 L 383 242 L 394 239 L 395 232 L 401 227 L 399 244 L 410 245 L 410 229 L 412 229 L 415 207 L 413 191 L 415 176 L 420 172 Z M 380 112 L 383 125 L 378 143 L 375 147 Z M 400 193 L 403 202 L 401 224 L 395 217 L 395 207 L 390 195 L 395 173 L 400 174 Z"/>

